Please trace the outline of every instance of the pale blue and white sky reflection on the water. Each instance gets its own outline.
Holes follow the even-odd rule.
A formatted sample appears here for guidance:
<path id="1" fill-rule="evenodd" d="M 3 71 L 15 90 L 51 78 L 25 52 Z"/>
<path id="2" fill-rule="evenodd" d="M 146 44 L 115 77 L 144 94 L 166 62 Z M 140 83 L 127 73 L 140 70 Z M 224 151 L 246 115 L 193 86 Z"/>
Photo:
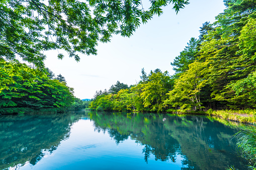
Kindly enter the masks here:
<path id="1" fill-rule="evenodd" d="M 146 163 L 143 147 L 130 137 L 117 145 L 107 132 L 95 131 L 92 121 L 81 119 L 71 126 L 69 138 L 56 150 L 51 154 L 43 151 L 44 157 L 37 164 L 27 163 L 21 169 L 181 169 L 182 155 L 176 155 L 176 162 L 163 162 L 156 161 L 151 153 Z"/>

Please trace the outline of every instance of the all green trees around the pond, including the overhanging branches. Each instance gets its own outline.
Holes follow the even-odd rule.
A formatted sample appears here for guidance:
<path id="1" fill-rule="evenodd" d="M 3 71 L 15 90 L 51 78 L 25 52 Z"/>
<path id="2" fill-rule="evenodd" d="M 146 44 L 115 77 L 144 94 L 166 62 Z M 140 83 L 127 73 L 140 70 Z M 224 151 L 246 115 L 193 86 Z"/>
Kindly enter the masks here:
<path id="1" fill-rule="evenodd" d="M 188 4 L 188 1 L 170 1 L 169 3 L 171 2 L 176 12 Z M 140 5 L 139 2 L 137 3 Z M 191 38 L 180 55 L 174 61 L 170 61 L 170 65 L 176 71 L 174 75 L 169 75 L 167 71 L 160 69 L 151 70 L 150 73 L 142 69 L 139 82 L 128 86 L 117 81 L 109 90 L 97 91 L 89 107 L 98 111 L 138 112 L 253 110 L 256 107 L 256 2 L 225 0 L 224 4 L 226 9 L 216 16 L 216 21 L 212 24 L 205 22 L 200 27 L 200 36 Z M 77 6 L 77 4 L 72 5 Z M 103 17 L 101 16 L 103 11 L 97 11 L 101 5 L 100 2 L 91 4 L 96 8 L 94 14 L 99 17 Z M 132 4 L 129 5 L 132 6 Z M 82 26 L 82 23 L 76 23 L 77 26 L 70 25 L 69 28 L 67 25 L 76 19 L 81 19 L 82 15 L 87 15 L 87 12 L 82 12 L 81 16 L 72 16 L 66 13 L 67 9 L 64 9 L 63 13 L 70 18 L 62 21 L 59 18 L 60 14 L 47 12 L 46 15 L 43 11 L 48 7 L 39 6 L 34 1 L 27 7 L 15 2 L 10 6 L 8 2 L 2 3 L 1 8 L 6 15 L 2 16 L 0 28 L 6 31 L 1 31 L 0 34 L 2 39 L 0 46 L 1 113 L 24 112 L 22 109 L 15 110 L 17 108 L 65 110 L 73 104 L 75 108 L 88 107 L 88 103 L 82 103 L 74 97 L 73 89 L 67 86 L 61 74 L 54 78 L 54 74 L 45 68 L 43 61 L 46 56 L 40 50 L 65 49 L 70 53 L 70 57 L 79 61 L 79 56 L 75 52 L 96 54 L 97 42 L 109 42 L 111 34 L 131 36 L 132 32 L 139 27 L 135 21 L 140 19 L 142 23 L 146 23 L 153 15 L 159 16 L 162 13 L 161 7 L 166 4 L 151 5 L 149 11 L 137 11 L 137 13 L 122 11 L 131 16 L 133 13 L 138 14 L 130 19 L 125 15 L 124 18 L 102 18 L 106 21 L 98 23 L 98 26 L 101 25 L 102 28 L 109 26 L 108 30 L 104 32 L 104 29 L 99 28 L 99 33 L 95 34 L 104 32 L 103 39 L 94 38 L 93 34 L 90 34 L 86 38 L 88 42 L 79 44 L 82 37 L 78 36 L 75 40 L 71 37 L 75 36 L 76 27 Z M 50 6 L 57 9 L 57 4 L 54 2 Z M 20 8 L 24 11 L 19 11 Z M 134 10 L 136 9 L 138 7 Z M 109 14 L 114 14 L 110 9 L 105 10 Z M 30 13 L 33 11 L 43 16 L 45 22 L 39 22 L 41 20 Z M 19 15 L 20 18 L 15 18 Z M 24 15 L 31 20 L 25 20 L 28 18 L 23 18 Z M 52 18 L 55 20 L 50 23 Z M 17 22 L 19 20 L 21 22 Z M 123 22 L 123 27 L 114 27 L 114 23 L 119 21 Z M 17 25 L 12 25 L 15 22 Z M 58 22 L 62 25 L 60 24 L 57 30 L 54 30 L 52 26 Z M 22 27 L 23 25 L 27 28 Z M 46 35 L 41 34 L 45 30 L 44 26 L 49 26 L 48 32 L 45 32 Z M 98 26 L 94 27 L 98 28 Z M 133 29 L 130 31 L 125 29 L 128 26 Z M 26 29 L 29 32 L 26 32 Z M 83 27 L 81 29 L 94 30 L 94 28 Z M 52 41 L 49 36 L 53 38 Z M 17 56 L 28 64 L 19 62 Z M 62 59 L 63 55 L 59 54 L 58 58 Z"/>

